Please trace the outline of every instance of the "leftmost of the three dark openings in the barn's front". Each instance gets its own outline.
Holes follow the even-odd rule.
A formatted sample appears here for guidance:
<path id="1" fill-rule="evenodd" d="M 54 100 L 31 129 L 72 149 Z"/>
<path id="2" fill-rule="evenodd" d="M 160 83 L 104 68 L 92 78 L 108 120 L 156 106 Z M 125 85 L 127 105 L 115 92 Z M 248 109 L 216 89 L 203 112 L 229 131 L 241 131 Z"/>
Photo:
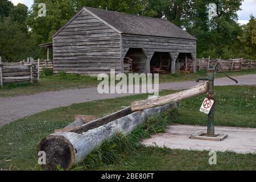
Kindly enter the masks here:
<path id="1" fill-rule="evenodd" d="M 141 48 L 129 48 L 123 59 L 125 73 L 147 73 L 147 56 Z"/>

